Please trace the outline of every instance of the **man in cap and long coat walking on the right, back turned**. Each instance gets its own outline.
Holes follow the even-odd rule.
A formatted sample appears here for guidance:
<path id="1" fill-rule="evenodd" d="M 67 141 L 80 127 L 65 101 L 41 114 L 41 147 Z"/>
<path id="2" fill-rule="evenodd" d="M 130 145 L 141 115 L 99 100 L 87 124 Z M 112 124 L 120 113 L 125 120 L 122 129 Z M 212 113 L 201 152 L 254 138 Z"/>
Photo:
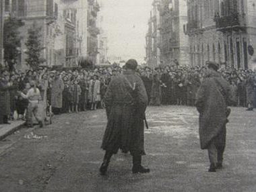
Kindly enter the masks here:
<path id="1" fill-rule="evenodd" d="M 222 168 L 226 145 L 226 123 L 232 103 L 230 85 L 217 72 L 218 64 L 207 62 L 207 75 L 197 92 L 195 106 L 199 111 L 199 137 L 201 149 L 207 149 L 210 172 Z"/>

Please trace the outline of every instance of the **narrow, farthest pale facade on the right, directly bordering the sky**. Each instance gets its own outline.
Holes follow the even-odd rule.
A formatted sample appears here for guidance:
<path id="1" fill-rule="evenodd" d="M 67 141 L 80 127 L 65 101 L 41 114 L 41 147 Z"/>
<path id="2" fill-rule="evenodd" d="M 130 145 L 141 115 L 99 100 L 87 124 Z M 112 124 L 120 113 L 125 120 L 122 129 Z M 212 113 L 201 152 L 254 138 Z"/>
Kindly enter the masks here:
<path id="1" fill-rule="evenodd" d="M 150 19 L 148 20 L 148 33 L 146 34 L 146 63 L 154 68 L 160 65 L 160 13 L 158 7 L 160 0 L 154 0 Z"/>

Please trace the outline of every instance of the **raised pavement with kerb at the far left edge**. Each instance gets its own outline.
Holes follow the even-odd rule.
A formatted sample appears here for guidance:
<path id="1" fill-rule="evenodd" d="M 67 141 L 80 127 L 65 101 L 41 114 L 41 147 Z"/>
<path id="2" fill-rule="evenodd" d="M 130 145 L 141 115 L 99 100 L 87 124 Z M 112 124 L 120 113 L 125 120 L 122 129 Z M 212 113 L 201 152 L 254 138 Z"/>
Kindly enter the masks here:
<path id="1" fill-rule="evenodd" d="M 10 134 L 13 134 L 13 132 L 18 130 L 25 124 L 24 121 L 20 121 L 20 120 L 10 122 L 10 123 L 11 124 L 0 124 L 0 140 L 9 136 Z"/>

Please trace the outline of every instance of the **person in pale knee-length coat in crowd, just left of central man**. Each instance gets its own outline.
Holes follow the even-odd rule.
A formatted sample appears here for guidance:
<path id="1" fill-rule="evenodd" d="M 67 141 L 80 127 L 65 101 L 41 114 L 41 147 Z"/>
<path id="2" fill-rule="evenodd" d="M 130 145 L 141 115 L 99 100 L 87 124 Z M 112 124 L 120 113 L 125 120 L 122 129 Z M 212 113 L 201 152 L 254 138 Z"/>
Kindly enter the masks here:
<path id="1" fill-rule="evenodd" d="M 91 105 L 91 110 L 96 110 L 97 103 L 100 101 L 100 81 L 97 75 L 93 76 L 93 79 L 89 83 L 88 99 Z"/>

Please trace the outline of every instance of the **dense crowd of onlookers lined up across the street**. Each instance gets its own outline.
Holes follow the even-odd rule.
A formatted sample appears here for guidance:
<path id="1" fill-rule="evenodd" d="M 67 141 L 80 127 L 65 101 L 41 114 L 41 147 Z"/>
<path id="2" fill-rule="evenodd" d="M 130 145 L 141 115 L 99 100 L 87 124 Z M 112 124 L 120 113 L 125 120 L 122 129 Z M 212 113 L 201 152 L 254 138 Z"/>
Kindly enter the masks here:
<path id="1" fill-rule="evenodd" d="M 236 106 L 253 109 L 253 105 L 256 105 L 256 71 L 234 68 L 220 68 L 219 71 L 232 87 Z M 139 67 L 137 70 L 145 84 L 150 105 L 193 106 L 204 72 L 205 67 L 201 66 Z M 28 110 L 31 101 L 27 94 L 30 89 L 36 93 L 36 87 L 40 91 L 40 99 L 36 97 L 34 101 L 43 101 L 45 110 L 56 115 L 104 108 L 108 84 L 111 78 L 121 73 L 119 66 L 1 70 L 0 124 L 8 123 L 8 119 L 25 119 L 24 114 L 28 111 L 35 113 L 35 106 Z"/>

